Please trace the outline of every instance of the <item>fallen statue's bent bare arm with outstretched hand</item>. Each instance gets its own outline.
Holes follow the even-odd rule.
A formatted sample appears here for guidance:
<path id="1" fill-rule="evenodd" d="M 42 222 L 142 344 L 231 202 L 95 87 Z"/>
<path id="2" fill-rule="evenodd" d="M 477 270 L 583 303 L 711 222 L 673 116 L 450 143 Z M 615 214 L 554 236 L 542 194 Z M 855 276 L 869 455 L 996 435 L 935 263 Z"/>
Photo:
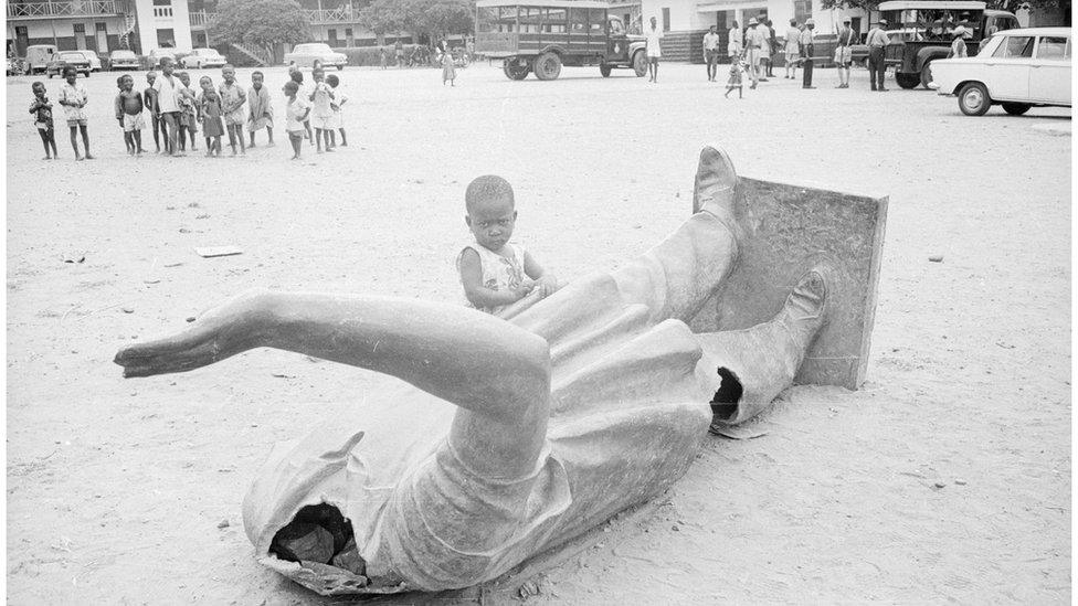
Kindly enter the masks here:
<path id="1" fill-rule="evenodd" d="M 149 376 L 193 370 L 258 347 L 385 373 L 456 405 L 450 442 L 479 474 L 527 475 L 545 444 L 547 341 L 458 306 L 251 291 L 176 334 L 124 348 L 115 361 L 125 376 Z"/>

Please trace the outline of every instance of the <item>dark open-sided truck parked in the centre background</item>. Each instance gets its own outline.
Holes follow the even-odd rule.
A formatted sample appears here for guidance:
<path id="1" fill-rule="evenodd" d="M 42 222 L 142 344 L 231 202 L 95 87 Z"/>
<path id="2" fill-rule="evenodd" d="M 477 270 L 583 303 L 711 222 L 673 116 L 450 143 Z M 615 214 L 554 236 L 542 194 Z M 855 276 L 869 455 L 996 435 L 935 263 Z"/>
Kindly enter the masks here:
<path id="1" fill-rule="evenodd" d="M 561 67 L 598 65 L 647 73 L 644 36 L 630 34 L 610 4 L 595 0 L 478 0 L 475 52 L 500 59 L 509 79 L 533 73 L 556 79 Z"/>

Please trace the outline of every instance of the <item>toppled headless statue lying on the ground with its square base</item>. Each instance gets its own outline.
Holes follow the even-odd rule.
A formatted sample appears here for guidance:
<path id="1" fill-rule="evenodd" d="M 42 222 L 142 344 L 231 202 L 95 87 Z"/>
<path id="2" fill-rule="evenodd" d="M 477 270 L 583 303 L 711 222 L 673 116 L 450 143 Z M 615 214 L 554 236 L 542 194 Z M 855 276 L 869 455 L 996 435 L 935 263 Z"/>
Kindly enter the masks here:
<path id="1" fill-rule="evenodd" d="M 323 595 L 468 587 L 665 491 L 709 426 L 795 382 L 855 389 L 885 210 L 739 179 L 705 148 L 675 233 L 501 317 L 253 291 L 116 362 L 148 376 L 270 347 L 403 380 L 277 445 L 244 529 L 263 564 Z"/>

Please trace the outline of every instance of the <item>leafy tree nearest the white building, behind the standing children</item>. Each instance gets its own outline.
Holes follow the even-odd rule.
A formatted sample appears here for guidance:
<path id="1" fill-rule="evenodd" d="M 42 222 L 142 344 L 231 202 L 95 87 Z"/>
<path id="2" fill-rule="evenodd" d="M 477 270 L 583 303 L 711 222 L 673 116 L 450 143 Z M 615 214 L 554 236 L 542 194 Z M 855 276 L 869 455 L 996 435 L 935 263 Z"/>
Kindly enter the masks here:
<path id="1" fill-rule="evenodd" d="M 265 50 L 310 40 L 310 19 L 296 0 L 220 0 L 210 35 Z"/>

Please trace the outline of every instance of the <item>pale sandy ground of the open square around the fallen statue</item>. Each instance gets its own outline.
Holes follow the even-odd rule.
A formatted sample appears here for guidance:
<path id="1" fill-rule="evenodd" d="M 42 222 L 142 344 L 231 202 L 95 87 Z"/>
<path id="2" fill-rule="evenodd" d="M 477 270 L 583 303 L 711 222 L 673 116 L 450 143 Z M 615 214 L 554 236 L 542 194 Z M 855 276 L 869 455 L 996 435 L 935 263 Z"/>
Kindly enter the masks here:
<path id="1" fill-rule="evenodd" d="M 116 350 L 249 287 L 462 300 L 463 191 L 489 172 L 551 272 L 615 267 L 686 217 L 706 143 L 742 174 L 890 196 L 868 380 L 789 390 L 767 435 L 709 438 L 664 498 L 486 600 L 530 578 L 540 603 L 1069 603 L 1069 110 L 968 118 L 864 71 L 743 100 L 690 65 L 341 76 L 349 147 L 303 163 L 279 125 L 245 158 L 127 158 L 109 74 L 86 81 L 98 159 L 61 131 L 43 162 L 30 79 L 8 78 L 11 604 L 320 603 L 255 563 L 240 502 L 274 440 L 393 380 L 270 350 L 124 380 Z M 225 244 L 244 252 L 193 251 Z"/>

